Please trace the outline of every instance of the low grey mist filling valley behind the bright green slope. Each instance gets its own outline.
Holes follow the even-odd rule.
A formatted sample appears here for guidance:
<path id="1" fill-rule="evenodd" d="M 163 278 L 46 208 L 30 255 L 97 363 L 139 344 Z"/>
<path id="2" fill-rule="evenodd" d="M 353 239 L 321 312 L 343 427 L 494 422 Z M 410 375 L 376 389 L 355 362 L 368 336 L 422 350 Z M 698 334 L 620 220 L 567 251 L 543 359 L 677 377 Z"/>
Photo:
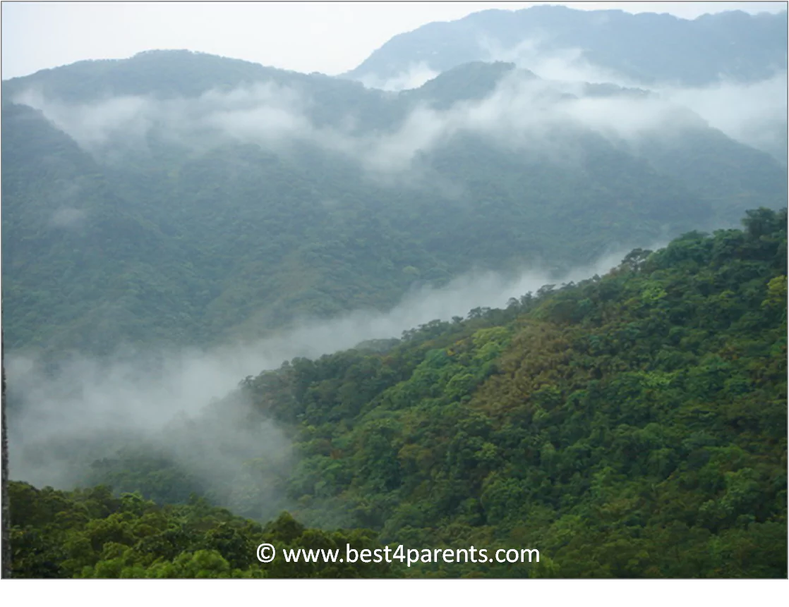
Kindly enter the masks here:
<path id="1" fill-rule="evenodd" d="M 90 482 L 96 466 L 124 449 L 164 456 L 199 480 L 222 505 L 245 499 L 250 482 L 264 503 L 245 515 L 274 516 L 287 501 L 279 490 L 297 463 L 287 430 L 267 419 L 239 382 L 297 356 L 316 358 L 369 339 L 400 337 L 434 319 L 504 307 L 510 297 L 545 284 L 605 274 L 628 251 L 563 276 L 529 270 L 514 277 L 472 273 L 443 289 L 409 293 L 387 313 L 353 311 L 333 320 L 302 319 L 296 328 L 252 343 L 211 350 L 150 352 L 120 347 L 116 355 L 73 355 L 57 372 L 42 360 L 8 352 L 9 471 L 34 486 L 71 489 Z M 238 493 L 241 491 L 241 493 Z"/>

